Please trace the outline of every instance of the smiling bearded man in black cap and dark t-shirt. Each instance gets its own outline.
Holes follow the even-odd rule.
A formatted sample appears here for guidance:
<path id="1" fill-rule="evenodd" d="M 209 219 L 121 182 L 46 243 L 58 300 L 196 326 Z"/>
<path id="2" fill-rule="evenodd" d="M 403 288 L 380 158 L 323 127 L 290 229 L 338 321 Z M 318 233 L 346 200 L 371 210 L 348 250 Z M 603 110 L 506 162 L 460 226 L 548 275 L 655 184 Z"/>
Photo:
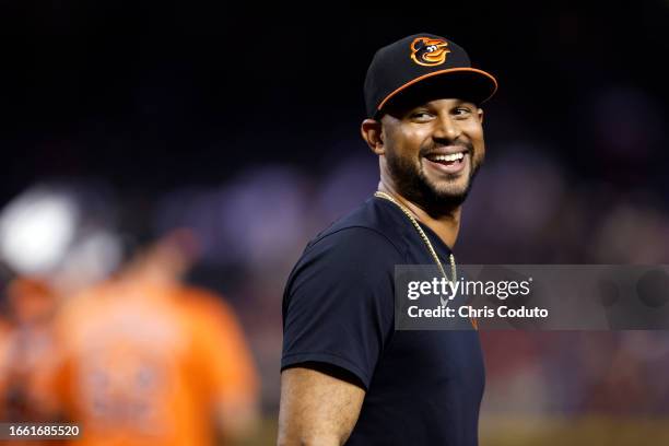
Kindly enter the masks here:
<path id="1" fill-rule="evenodd" d="M 418 34 L 376 52 L 364 90 L 378 191 L 312 240 L 287 280 L 279 444 L 476 445 L 478 332 L 396 331 L 394 269 L 455 266 L 484 157 L 479 105 L 496 81 L 453 42 Z"/>

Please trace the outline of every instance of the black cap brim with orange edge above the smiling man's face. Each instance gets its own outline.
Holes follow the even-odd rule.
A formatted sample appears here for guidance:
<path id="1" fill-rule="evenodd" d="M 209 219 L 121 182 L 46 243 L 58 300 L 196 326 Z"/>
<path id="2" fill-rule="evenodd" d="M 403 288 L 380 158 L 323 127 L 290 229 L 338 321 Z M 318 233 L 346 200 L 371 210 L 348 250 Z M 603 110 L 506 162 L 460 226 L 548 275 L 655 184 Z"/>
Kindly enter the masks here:
<path id="1" fill-rule="evenodd" d="M 482 104 L 497 91 L 497 80 L 476 68 L 449 68 L 412 79 L 387 95 L 378 105 L 378 114 L 391 104 L 443 98 L 459 98 Z"/>

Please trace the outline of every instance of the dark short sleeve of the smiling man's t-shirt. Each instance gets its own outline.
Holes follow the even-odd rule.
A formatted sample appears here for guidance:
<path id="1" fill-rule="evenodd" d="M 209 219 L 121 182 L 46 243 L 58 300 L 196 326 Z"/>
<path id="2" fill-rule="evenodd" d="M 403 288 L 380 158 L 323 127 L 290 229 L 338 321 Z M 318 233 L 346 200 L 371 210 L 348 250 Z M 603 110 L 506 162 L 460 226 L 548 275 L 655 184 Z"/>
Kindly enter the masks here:
<path id="1" fill-rule="evenodd" d="M 394 271 L 401 255 L 365 227 L 309 246 L 289 278 L 283 302 L 281 368 L 326 363 L 368 388 L 394 328 Z"/>

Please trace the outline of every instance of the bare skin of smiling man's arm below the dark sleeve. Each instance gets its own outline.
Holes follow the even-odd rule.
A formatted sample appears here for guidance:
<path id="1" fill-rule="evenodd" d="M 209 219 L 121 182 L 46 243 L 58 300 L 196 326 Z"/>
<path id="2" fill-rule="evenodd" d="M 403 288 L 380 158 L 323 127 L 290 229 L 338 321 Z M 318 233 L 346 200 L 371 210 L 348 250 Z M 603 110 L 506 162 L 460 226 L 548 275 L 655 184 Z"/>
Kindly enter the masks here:
<path id="1" fill-rule="evenodd" d="M 360 414 L 365 391 L 303 367 L 281 374 L 279 445 L 341 445 Z"/>

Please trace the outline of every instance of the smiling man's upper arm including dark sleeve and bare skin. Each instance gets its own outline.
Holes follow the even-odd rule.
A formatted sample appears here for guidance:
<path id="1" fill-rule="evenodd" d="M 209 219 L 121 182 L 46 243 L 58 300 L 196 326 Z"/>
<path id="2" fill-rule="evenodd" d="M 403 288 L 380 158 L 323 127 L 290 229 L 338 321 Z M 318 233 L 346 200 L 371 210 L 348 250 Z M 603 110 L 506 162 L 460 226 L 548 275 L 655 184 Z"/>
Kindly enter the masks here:
<path id="1" fill-rule="evenodd" d="M 394 328 L 397 248 L 368 228 L 313 246 L 289 279 L 283 306 L 279 444 L 340 445 Z"/>

